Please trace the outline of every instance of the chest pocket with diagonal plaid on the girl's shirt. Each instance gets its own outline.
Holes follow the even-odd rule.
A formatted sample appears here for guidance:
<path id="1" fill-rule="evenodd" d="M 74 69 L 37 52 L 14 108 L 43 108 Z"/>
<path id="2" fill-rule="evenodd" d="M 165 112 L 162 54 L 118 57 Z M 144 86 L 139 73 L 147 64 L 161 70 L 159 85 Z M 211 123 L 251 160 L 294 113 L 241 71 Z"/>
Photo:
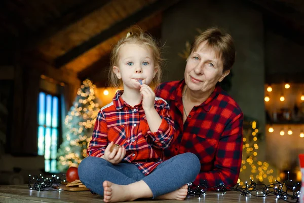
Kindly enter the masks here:
<path id="1" fill-rule="evenodd" d="M 127 140 L 127 131 L 125 125 L 116 125 L 108 127 L 108 141 L 124 146 Z"/>

